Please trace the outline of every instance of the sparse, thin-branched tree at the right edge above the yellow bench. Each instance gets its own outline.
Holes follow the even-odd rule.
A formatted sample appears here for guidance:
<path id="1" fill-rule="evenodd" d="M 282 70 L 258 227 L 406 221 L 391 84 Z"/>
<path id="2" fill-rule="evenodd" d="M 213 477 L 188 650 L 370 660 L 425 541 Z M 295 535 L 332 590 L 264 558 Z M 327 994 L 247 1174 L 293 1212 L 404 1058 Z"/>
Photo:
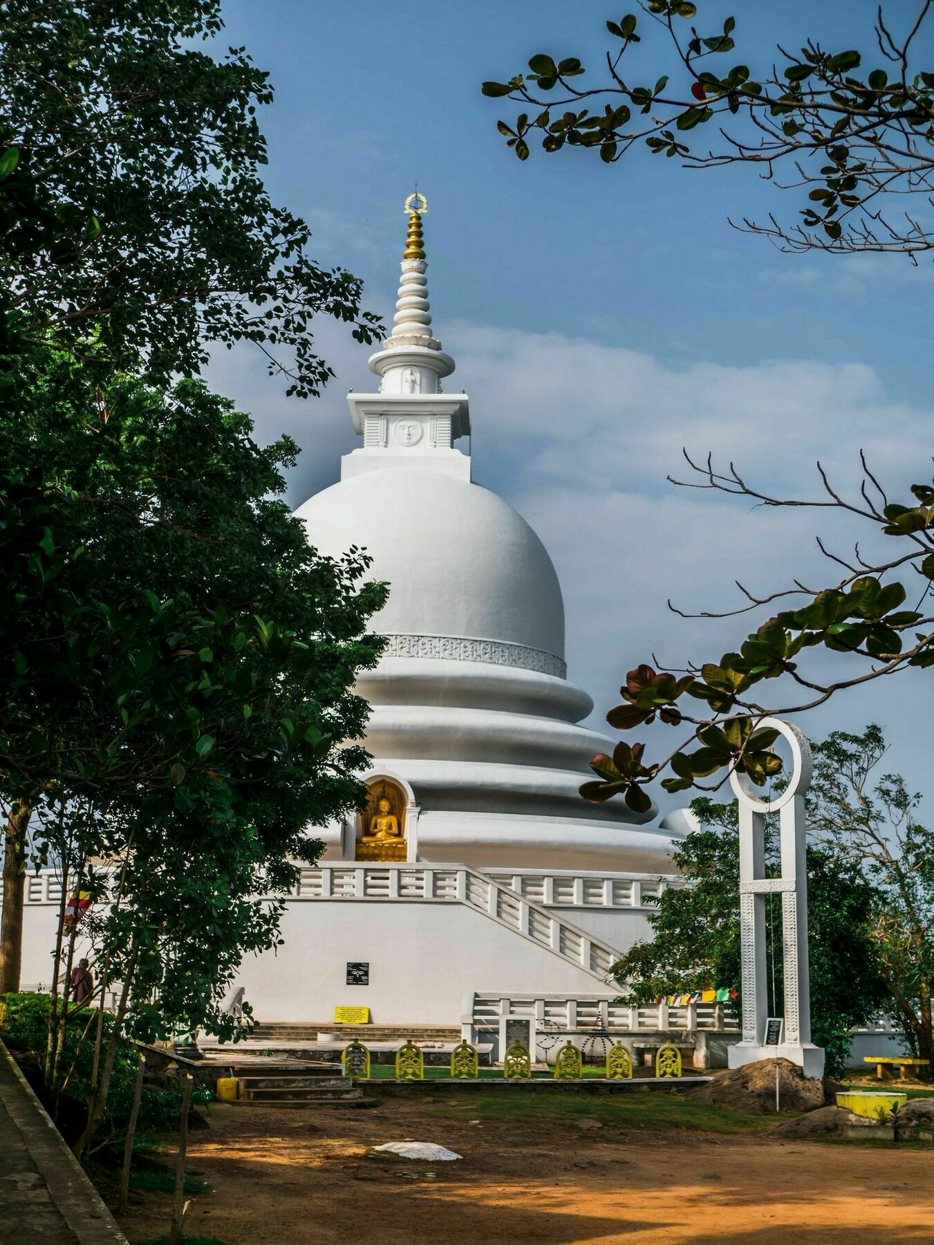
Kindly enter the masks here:
<path id="1" fill-rule="evenodd" d="M 858 868 L 877 894 L 874 941 L 890 1012 L 913 1055 L 934 1068 L 934 833 L 900 774 L 873 772 L 885 754 L 878 726 L 835 731 L 816 754 L 813 838 Z"/>

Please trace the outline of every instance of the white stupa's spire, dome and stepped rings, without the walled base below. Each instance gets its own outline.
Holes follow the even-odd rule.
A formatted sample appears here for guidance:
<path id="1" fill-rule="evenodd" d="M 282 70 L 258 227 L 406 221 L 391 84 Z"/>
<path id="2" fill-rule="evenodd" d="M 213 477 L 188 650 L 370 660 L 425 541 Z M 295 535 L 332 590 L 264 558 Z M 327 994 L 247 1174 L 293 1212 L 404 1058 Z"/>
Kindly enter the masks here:
<path id="1" fill-rule="evenodd" d="M 363 547 L 389 584 L 371 624 L 386 652 L 358 687 L 373 706 L 372 778 L 405 792 L 409 860 L 662 869 L 670 839 L 648 827 L 654 808 L 578 794 L 590 758 L 613 743 L 577 725 L 593 702 L 566 679 L 545 547 L 471 482 L 469 400 L 442 388 L 454 360 L 432 336 L 420 212 L 409 220 L 393 332 L 369 360 L 379 391 L 348 397 L 363 444 L 297 510 L 321 553 Z M 333 834 L 326 859 L 352 854 Z"/>

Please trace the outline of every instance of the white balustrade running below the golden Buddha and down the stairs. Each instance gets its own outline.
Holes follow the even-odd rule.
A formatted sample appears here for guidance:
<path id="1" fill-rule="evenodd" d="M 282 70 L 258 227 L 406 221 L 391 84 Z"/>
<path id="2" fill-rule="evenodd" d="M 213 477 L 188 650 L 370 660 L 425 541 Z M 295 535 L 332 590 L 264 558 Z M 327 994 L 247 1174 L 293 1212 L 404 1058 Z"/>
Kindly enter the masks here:
<path id="1" fill-rule="evenodd" d="M 352 862 L 305 867 L 294 899 L 465 904 L 583 969 L 603 986 L 622 954 L 511 885 L 466 865 Z"/>

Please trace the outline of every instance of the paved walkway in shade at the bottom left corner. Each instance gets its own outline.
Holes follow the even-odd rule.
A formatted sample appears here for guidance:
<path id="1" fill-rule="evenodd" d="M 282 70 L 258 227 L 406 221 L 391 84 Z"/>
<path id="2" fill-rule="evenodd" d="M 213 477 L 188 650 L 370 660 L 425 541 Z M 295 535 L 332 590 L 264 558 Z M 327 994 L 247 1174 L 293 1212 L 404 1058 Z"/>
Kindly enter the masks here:
<path id="1" fill-rule="evenodd" d="M 127 1245 L 0 1042 L 0 1241 Z"/>

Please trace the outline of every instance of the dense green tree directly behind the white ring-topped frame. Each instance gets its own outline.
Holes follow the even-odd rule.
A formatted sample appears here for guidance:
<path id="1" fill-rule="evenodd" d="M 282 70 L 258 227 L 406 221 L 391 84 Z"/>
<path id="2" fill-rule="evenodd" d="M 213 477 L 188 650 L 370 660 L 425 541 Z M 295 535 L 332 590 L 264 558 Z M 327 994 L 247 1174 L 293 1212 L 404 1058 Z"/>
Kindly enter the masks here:
<path id="1" fill-rule="evenodd" d="M 869 728 L 874 730 L 874 728 Z M 832 736 L 815 749 L 818 767 L 832 764 Z M 826 759 L 825 759 L 826 758 Z M 808 801 L 811 820 L 827 810 L 818 786 Z M 669 886 L 649 916 L 652 941 L 637 942 L 614 966 L 624 1001 L 653 1003 L 659 996 L 730 987 L 741 1003 L 739 834 L 736 804 L 695 799 L 703 829 L 675 848 L 673 864 L 687 885 Z M 766 817 L 766 860 L 780 869 L 777 818 Z M 862 862 L 835 837 L 807 847 L 811 1020 L 813 1040 L 838 1073 L 852 1043 L 852 1028 L 892 1006 L 883 969 L 878 914 L 883 896 Z M 784 987 L 781 905 L 766 909 L 771 1015 L 781 1015 Z"/>

